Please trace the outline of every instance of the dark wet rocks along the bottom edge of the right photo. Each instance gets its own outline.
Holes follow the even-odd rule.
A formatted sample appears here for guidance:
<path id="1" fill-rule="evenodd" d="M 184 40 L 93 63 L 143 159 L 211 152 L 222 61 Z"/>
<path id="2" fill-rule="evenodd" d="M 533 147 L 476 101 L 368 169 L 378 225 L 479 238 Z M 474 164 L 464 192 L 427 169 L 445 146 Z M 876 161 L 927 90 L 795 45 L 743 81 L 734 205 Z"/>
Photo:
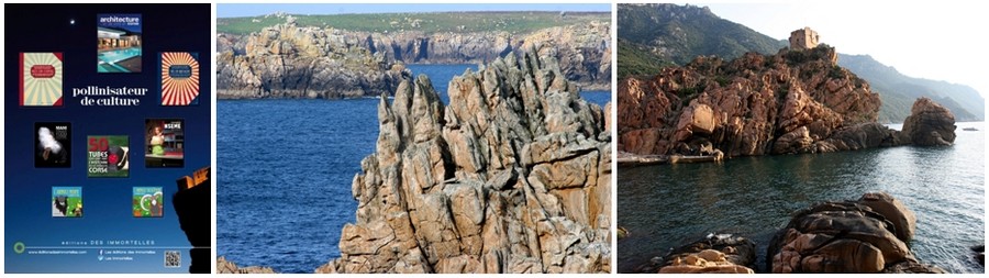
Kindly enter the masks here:
<path id="1" fill-rule="evenodd" d="M 731 234 L 671 249 L 638 268 L 640 273 L 755 273 L 755 246 L 766 247 L 764 268 L 773 274 L 944 274 L 915 258 L 910 241 L 913 212 L 885 192 L 857 200 L 825 201 L 796 211 L 768 243 Z"/>

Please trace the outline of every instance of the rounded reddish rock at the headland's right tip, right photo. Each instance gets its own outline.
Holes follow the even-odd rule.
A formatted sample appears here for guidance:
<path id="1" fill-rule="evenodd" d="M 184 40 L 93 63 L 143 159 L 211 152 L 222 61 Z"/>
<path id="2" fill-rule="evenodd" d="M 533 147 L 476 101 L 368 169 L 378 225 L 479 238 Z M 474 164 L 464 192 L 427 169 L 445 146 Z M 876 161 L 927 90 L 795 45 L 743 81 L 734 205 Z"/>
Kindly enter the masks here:
<path id="1" fill-rule="evenodd" d="M 903 121 L 903 140 L 919 146 L 948 146 L 955 142 L 955 115 L 929 98 L 913 102 Z"/>

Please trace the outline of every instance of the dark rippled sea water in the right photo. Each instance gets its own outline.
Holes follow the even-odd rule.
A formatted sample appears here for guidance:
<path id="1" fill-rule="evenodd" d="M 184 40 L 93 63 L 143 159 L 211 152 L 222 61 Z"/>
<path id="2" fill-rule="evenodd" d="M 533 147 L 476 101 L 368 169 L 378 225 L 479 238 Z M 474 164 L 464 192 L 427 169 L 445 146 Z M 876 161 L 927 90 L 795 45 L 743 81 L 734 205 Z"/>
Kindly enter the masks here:
<path id="1" fill-rule="evenodd" d="M 957 123 L 954 146 L 729 159 L 723 164 L 618 169 L 619 271 L 708 233 L 756 242 L 764 267 L 773 233 L 790 213 L 826 200 L 886 191 L 916 214 L 916 258 L 949 273 L 985 273 L 969 247 L 985 242 L 984 122 Z M 963 131 L 974 126 L 979 131 Z M 899 130 L 900 125 L 890 125 Z M 759 271 L 759 270 L 757 270 Z"/>

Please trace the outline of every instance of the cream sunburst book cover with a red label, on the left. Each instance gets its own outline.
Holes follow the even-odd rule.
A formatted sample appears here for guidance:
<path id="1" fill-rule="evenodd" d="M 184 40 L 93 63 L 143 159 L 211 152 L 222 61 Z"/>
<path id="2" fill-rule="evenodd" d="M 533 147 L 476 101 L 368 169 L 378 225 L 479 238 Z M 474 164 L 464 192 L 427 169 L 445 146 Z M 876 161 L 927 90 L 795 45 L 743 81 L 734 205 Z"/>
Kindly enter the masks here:
<path id="1" fill-rule="evenodd" d="M 63 56 L 60 52 L 21 53 L 20 104 L 62 107 Z"/>

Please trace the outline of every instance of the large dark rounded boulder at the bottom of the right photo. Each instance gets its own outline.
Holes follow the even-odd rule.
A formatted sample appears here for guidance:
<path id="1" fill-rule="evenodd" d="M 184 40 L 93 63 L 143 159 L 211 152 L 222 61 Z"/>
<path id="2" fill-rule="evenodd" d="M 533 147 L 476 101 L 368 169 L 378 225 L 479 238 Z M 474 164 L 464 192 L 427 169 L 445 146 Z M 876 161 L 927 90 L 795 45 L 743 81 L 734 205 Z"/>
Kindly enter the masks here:
<path id="1" fill-rule="evenodd" d="M 801 273 L 944 273 L 916 262 L 908 243 L 916 220 L 882 192 L 829 201 L 794 213 L 767 251 L 767 269 Z"/>

